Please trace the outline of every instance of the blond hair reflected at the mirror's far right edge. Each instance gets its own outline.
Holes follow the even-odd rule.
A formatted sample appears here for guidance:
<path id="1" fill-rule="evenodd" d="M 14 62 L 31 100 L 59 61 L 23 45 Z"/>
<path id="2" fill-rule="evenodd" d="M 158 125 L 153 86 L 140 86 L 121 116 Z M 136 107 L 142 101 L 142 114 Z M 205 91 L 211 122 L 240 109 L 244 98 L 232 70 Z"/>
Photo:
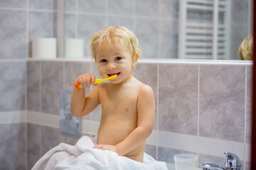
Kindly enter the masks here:
<path id="1" fill-rule="evenodd" d="M 245 40 L 242 41 L 238 49 L 238 56 L 240 57 L 240 60 L 253 60 L 252 48 L 253 37 L 250 34 L 247 36 L 247 38 L 245 38 Z"/>

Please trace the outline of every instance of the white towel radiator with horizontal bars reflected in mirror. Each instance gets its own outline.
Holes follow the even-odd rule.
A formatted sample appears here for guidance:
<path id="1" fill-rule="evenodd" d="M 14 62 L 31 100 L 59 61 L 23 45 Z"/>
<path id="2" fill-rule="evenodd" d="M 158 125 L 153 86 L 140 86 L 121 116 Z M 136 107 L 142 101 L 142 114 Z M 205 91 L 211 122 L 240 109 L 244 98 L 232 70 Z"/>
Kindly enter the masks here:
<path id="1" fill-rule="evenodd" d="M 230 0 L 180 0 L 178 58 L 228 60 L 229 53 Z"/>

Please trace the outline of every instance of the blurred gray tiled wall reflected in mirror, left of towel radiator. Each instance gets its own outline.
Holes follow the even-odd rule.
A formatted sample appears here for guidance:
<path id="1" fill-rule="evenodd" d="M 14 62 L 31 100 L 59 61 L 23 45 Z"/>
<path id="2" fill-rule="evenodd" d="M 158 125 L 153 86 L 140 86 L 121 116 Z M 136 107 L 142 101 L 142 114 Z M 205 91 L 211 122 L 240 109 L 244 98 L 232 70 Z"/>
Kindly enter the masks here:
<path id="1" fill-rule="evenodd" d="M 125 26 L 132 30 L 147 58 L 176 56 L 176 0 L 65 2 L 65 38 L 82 38 L 85 41 L 86 56 L 90 55 L 88 45 L 92 33 L 105 26 Z"/>

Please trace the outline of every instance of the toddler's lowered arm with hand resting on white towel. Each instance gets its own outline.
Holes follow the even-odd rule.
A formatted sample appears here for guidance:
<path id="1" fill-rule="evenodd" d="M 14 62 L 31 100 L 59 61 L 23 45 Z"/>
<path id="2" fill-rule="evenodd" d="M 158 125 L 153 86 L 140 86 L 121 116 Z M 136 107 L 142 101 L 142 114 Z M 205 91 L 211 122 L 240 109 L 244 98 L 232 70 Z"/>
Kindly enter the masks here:
<path id="1" fill-rule="evenodd" d="M 154 92 L 150 86 L 144 85 L 139 92 L 138 126 L 122 142 L 117 145 L 96 145 L 95 148 L 107 149 L 125 155 L 142 145 L 151 134 L 154 126 L 155 101 Z"/>

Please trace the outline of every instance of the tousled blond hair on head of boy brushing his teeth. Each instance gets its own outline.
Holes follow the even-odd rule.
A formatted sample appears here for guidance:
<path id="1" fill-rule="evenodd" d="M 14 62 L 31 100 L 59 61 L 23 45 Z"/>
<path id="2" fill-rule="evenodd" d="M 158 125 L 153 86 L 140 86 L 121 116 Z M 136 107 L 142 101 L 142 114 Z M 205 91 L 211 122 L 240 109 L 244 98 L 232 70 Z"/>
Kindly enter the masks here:
<path id="1" fill-rule="evenodd" d="M 90 52 L 91 57 L 96 60 L 96 48 L 101 45 L 102 42 L 108 42 L 110 45 L 117 42 L 119 39 L 124 40 L 125 46 L 132 52 L 132 60 L 136 55 L 142 57 L 142 50 L 140 50 L 139 41 L 134 33 L 125 27 L 105 27 L 97 33 L 92 35 L 90 39 Z"/>

